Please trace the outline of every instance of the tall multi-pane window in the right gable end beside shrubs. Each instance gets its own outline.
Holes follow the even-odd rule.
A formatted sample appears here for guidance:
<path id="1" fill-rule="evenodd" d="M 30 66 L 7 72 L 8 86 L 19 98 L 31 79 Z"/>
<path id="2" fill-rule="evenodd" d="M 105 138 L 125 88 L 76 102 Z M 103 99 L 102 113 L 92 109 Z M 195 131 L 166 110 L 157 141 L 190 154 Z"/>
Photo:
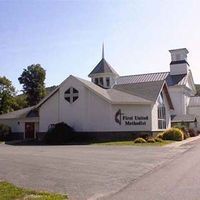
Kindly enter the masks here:
<path id="1" fill-rule="evenodd" d="M 158 129 L 166 129 L 166 110 L 162 93 L 158 98 Z"/>

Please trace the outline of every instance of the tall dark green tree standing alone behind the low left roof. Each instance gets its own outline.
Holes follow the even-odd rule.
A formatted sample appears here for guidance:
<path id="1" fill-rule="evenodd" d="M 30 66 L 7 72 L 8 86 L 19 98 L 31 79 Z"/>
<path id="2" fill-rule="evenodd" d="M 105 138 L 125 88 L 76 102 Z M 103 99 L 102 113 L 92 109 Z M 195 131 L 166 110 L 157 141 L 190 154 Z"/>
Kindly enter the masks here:
<path id="1" fill-rule="evenodd" d="M 23 92 L 29 106 L 36 105 L 45 96 L 45 77 L 46 72 L 40 64 L 33 64 L 24 69 L 18 78 L 20 84 L 23 84 Z"/>

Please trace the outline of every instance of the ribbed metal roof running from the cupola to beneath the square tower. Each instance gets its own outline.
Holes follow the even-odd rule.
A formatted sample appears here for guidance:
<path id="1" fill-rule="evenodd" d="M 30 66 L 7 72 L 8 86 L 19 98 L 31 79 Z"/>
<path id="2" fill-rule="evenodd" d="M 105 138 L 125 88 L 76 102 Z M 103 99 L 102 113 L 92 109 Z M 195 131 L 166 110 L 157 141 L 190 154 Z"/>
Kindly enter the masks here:
<path id="1" fill-rule="evenodd" d="M 116 84 L 143 83 L 163 80 L 166 80 L 168 86 L 185 85 L 187 82 L 187 75 L 170 75 L 170 72 L 157 72 L 149 74 L 119 76 L 116 80 Z"/>

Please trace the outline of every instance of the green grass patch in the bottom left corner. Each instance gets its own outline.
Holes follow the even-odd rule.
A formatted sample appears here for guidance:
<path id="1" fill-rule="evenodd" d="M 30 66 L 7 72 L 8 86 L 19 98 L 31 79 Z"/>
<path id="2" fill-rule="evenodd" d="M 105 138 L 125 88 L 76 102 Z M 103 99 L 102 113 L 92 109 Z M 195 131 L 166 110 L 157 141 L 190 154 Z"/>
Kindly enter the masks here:
<path id="1" fill-rule="evenodd" d="M 66 200 L 66 195 L 27 190 L 8 182 L 0 182 L 0 200 Z"/>

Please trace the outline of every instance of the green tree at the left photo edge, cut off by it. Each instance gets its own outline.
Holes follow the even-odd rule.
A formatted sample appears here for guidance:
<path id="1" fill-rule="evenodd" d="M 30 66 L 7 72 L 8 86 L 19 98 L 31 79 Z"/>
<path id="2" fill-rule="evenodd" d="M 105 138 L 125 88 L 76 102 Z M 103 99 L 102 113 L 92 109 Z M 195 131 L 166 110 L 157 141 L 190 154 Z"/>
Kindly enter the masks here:
<path id="1" fill-rule="evenodd" d="M 13 111 L 15 88 L 5 76 L 0 77 L 0 114 Z"/>

